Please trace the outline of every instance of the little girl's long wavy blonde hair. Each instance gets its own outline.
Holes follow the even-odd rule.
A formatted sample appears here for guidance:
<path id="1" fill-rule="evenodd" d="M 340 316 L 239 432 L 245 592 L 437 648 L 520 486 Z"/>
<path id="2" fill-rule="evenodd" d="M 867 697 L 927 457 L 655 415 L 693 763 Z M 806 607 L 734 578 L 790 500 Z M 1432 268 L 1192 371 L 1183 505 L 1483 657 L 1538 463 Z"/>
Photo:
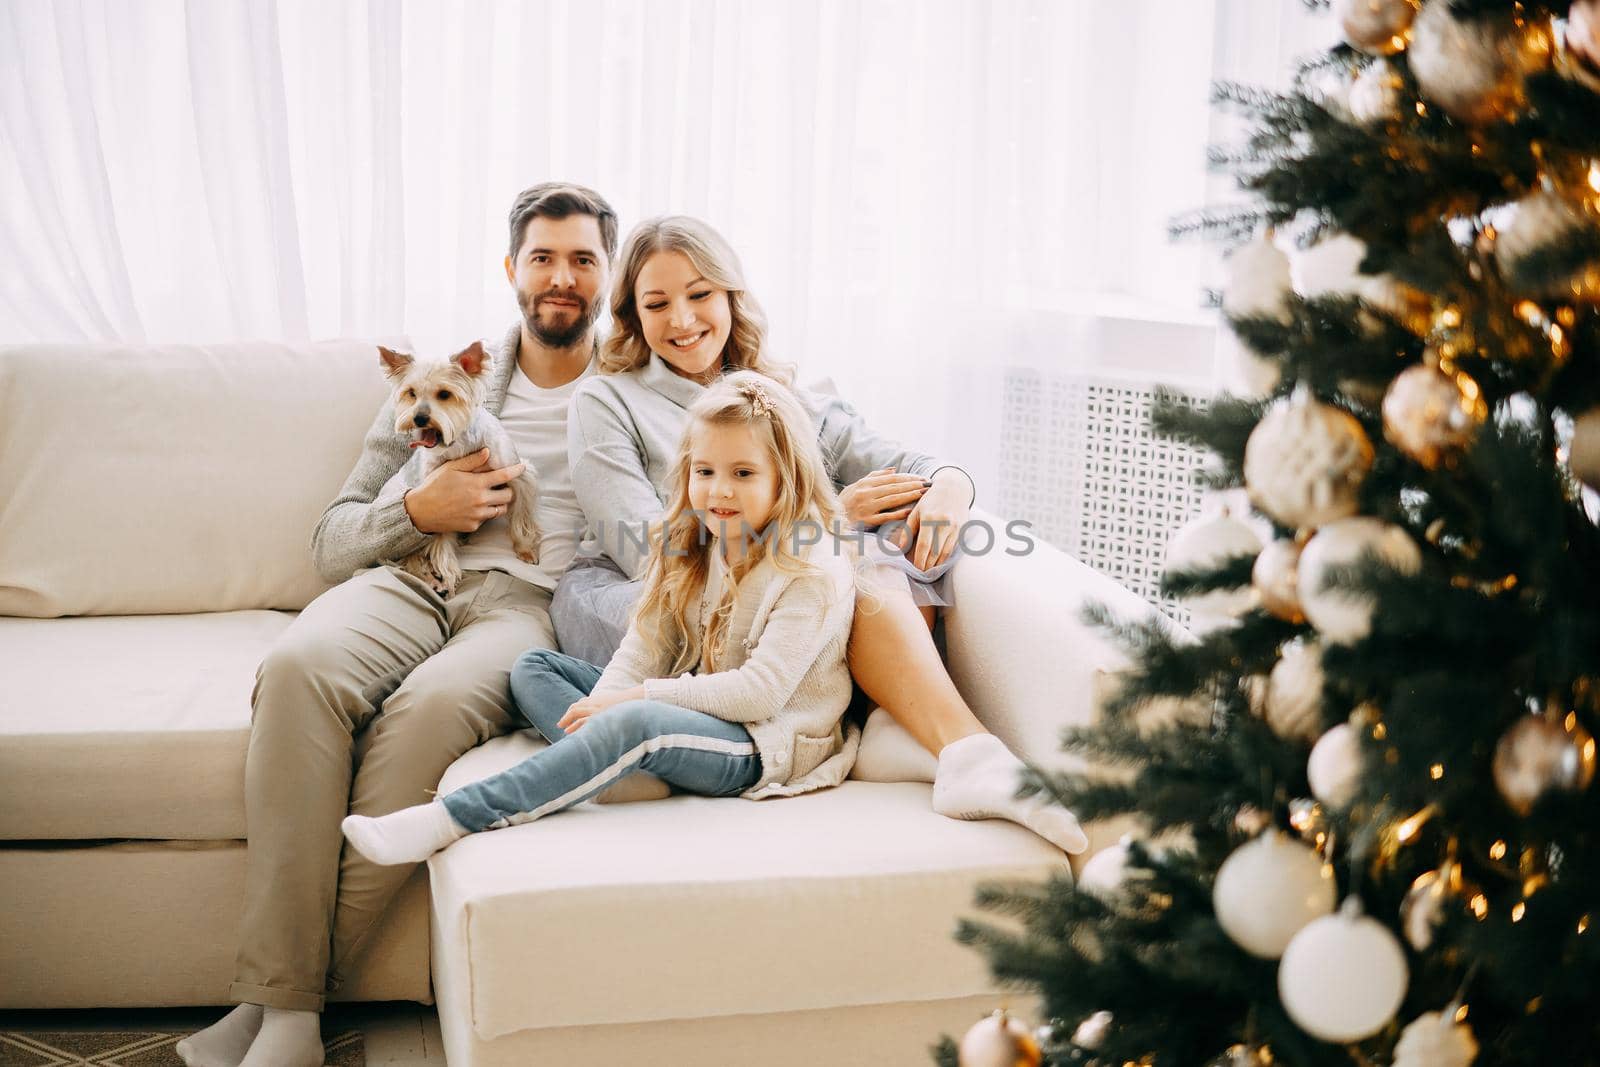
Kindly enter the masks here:
<path id="1" fill-rule="evenodd" d="M 701 593 L 710 574 L 715 539 L 690 504 L 690 459 L 694 432 L 702 426 L 746 426 L 765 445 L 778 470 L 778 501 L 766 528 L 757 531 L 749 550 L 723 582 L 704 632 L 694 625 Z M 642 635 L 656 648 L 675 649 L 669 675 L 685 670 L 718 670 L 722 640 L 738 597 L 739 579 L 763 558 L 790 574 L 819 574 L 819 568 L 797 555 L 797 528 L 818 523 L 819 531 L 835 531 L 840 523 L 838 496 L 822 464 L 811 416 L 795 395 L 754 371 L 734 371 L 706 390 L 690 408 L 677 462 L 672 466 L 672 498 L 662 515 L 645 568 L 645 587 L 634 619 Z M 822 533 L 824 541 L 830 539 Z M 822 550 L 842 550 L 837 542 Z"/>

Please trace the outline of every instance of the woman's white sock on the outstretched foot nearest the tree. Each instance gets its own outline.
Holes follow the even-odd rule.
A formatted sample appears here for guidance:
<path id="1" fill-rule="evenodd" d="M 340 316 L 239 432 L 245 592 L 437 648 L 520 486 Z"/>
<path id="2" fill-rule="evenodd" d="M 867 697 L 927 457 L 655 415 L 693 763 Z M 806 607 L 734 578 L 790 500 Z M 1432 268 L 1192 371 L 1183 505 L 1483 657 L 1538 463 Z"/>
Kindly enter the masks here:
<path id="1" fill-rule="evenodd" d="M 933 809 L 952 819 L 1010 819 L 1064 853 L 1090 846 L 1077 816 L 1038 793 L 1018 800 L 1022 761 L 994 734 L 970 734 L 939 752 Z"/>

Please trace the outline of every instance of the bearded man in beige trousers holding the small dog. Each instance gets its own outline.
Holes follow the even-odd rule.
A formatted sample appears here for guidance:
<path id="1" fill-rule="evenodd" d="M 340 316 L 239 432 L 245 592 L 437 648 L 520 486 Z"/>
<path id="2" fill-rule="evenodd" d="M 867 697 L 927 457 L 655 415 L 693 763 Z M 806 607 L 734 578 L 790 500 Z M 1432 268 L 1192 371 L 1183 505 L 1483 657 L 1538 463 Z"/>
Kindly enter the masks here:
<path id="1" fill-rule="evenodd" d="M 555 648 L 550 593 L 582 528 L 566 402 L 595 370 L 616 213 L 589 189 L 546 182 L 517 197 L 509 222 L 506 278 L 522 322 L 485 346 L 486 406 L 538 472 L 539 563 L 518 560 L 506 530 L 504 486 L 522 464 L 494 470 L 477 453 L 406 488 L 394 475 L 410 450 L 386 403 L 312 534 L 317 569 L 342 584 L 301 613 L 256 673 L 245 917 L 229 990 L 242 1003 L 179 1043 L 190 1067 L 323 1062 L 325 993 L 413 870 L 342 848 L 339 821 L 427 800 L 456 757 L 515 726 L 507 675 L 518 653 Z M 384 565 L 443 531 L 475 534 L 448 600 Z"/>

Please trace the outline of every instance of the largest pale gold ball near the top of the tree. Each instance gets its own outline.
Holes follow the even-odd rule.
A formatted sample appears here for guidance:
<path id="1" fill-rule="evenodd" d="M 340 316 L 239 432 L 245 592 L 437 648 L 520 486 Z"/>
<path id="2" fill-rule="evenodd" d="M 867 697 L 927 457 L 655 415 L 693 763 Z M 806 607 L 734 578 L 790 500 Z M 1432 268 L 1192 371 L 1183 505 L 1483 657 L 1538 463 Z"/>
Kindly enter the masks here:
<path id="1" fill-rule="evenodd" d="M 1510 118 L 1525 102 L 1523 78 L 1550 62 L 1549 26 L 1510 16 L 1464 18 L 1448 2 L 1422 5 L 1406 53 L 1422 96 L 1451 118 Z"/>

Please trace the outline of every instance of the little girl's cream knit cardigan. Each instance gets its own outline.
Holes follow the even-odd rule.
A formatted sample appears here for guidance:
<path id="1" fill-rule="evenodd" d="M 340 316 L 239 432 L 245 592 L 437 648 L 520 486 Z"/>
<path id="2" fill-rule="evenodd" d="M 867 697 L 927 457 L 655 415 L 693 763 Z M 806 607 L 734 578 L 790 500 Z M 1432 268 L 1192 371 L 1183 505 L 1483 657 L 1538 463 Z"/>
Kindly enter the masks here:
<path id="1" fill-rule="evenodd" d="M 741 723 L 762 755 L 762 777 L 742 793 L 752 800 L 838 785 L 861 744 L 859 728 L 840 725 L 850 704 L 854 557 L 824 537 L 805 558 L 821 574 L 786 574 L 768 557 L 739 581 L 723 670 L 662 678 L 675 649 L 651 649 L 629 625 L 594 691 L 643 685 L 653 701 Z M 699 617 L 690 625 L 699 632 Z"/>

